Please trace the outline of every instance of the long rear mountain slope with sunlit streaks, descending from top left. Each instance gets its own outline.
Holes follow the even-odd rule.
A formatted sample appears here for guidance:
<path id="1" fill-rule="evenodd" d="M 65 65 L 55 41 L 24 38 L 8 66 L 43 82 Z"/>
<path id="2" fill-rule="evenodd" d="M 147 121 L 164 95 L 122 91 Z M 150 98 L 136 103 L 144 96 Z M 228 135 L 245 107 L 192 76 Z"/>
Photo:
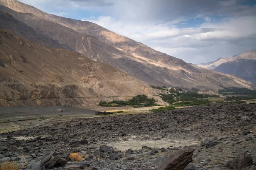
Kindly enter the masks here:
<path id="1" fill-rule="evenodd" d="M 16 0 L 0 0 L 0 5 L 5 6 L 1 6 L 2 11 L 61 44 L 95 61 L 108 62 L 150 85 L 195 87 L 204 91 L 216 91 L 221 88 L 218 85 L 253 87 L 243 79 L 188 64 L 94 23 L 47 14 Z"/>

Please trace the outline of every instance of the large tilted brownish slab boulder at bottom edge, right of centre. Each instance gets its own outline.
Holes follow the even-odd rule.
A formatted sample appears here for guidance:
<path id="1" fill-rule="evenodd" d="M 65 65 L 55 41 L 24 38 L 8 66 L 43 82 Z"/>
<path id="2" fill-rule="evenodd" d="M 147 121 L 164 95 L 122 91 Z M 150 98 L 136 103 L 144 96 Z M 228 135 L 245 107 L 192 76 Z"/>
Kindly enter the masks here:
<path id="1" fill-rule="evenodd" d="M 186 148 L 178 150 L 161 164 L 157 170 L 184 170 L 193 161 L 192 156 L 195 149 Z"/>

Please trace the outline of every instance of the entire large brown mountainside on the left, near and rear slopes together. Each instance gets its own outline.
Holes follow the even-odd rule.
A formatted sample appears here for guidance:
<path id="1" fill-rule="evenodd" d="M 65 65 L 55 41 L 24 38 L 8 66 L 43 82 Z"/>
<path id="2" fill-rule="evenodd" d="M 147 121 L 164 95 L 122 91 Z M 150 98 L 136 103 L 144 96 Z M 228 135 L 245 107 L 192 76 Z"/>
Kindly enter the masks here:
<path id="1" fill-rule="evenodd" d="M 47 14 L 16 0 L 0 0 L 0 21 L 4 37 L 0 43 L 1 100 L 33 99 L 40 103 L 47 99 L 54 105 L 64 99 L 81 104 L 81 98 L 95 97 L 83 103 L 93 105 L 102 97 L 156 95 L 149 85 L 193 87 L 214 93 L 222 86 L 255 87 L 97 24 Z M 73 91 L 72 95 L 66 91 Z"/>

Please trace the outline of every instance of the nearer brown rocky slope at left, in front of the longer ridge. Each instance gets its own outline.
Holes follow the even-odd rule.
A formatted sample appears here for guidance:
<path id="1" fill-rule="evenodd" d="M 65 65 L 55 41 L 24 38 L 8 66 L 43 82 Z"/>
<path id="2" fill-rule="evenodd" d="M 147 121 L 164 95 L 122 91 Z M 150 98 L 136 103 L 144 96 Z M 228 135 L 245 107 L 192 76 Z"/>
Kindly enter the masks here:
<path id="1" fill-rule="evenodd" d="M 47 48 L 0 29 L 0 106 L 97 105 L 100 99 L 153 95 L 152 88 L 108 63 Z M 118 98 L 119 97 L 119 98 Z"/>

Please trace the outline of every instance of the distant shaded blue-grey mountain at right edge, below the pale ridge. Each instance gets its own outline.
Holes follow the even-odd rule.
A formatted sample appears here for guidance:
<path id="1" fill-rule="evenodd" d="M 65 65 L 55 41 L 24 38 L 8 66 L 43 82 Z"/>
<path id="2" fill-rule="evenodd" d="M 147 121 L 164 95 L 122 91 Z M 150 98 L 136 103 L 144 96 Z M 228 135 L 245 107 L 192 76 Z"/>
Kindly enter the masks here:
<path id="1" fill-rule="evenodd" d="M 237 77 L 256 84 L 256 60 L 236 59 L 231 62 L 224 62 L 214 69 L 221 73 L 235 74 Z"/>

